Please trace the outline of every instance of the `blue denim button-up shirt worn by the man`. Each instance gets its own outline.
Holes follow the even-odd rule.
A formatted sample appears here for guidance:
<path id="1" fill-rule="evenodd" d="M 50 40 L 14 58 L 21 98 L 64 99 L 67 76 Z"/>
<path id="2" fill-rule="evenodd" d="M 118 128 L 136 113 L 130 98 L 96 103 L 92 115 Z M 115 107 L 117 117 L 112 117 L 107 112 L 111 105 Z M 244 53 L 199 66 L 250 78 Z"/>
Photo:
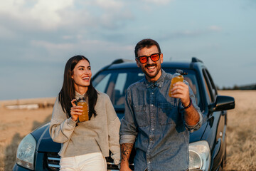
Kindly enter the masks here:
<path id="1" fill-rule="evenodd" d="M 200 115 L 193 126 L 186 125 L 181 100 L 169 97 L 172 75 L 161 71 L 155 83 L 144 78 L 127 89 L 119 134 L 121 144 L 135 142 L 136 171 L 187 170 L 189 132 L 201 127 L 202 114 L 191 88 L 190 97 Z"/>

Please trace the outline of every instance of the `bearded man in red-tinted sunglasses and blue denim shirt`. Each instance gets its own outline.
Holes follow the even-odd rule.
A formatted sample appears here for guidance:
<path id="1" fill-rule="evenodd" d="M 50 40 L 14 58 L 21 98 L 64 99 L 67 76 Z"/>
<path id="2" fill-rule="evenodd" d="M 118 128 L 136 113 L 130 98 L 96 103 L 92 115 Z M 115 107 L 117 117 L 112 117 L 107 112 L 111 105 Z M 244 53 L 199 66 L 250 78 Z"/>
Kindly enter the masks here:
<path id="1" fill-rule="evenodd" d="M 163 54 L 156 41 L 139 41 L 134 52 L 145 78 L 127 89 L 120 170 L 130 170 L 134 142 L 134 170 L 188 170 L 189 131 L 202 123 L 193 92 L 186 81 L 177 82 L 169 96 L 172 75 L 161 69 Z"/>

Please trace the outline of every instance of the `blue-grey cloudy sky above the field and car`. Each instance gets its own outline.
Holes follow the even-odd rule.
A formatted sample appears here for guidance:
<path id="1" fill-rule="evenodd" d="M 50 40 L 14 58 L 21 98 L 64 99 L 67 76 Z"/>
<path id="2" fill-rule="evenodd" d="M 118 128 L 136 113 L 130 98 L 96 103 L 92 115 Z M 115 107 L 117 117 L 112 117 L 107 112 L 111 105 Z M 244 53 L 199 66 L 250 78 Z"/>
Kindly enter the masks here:
<path id="1" fill-rule="evenodd" d="M 0 0 L 0 100 L 56 97 L 66 61 L 92 75 L 134 59 L 143 38 L 164 61 L 196 56 L 220 87 L 256 83 L 255 0 Z"/>

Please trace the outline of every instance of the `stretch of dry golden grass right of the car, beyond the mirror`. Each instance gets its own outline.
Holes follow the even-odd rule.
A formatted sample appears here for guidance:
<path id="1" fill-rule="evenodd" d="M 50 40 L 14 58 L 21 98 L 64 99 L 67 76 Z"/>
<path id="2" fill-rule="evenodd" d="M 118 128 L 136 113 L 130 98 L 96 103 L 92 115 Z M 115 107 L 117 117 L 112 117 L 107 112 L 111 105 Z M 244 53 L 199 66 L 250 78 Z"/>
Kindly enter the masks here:
<path id="1" fill-rule="evenodd" d="M 256 170 L 256 90 L 219 93 L 235 98 L 235 109 L 228 111 L 225 170 Z"/>

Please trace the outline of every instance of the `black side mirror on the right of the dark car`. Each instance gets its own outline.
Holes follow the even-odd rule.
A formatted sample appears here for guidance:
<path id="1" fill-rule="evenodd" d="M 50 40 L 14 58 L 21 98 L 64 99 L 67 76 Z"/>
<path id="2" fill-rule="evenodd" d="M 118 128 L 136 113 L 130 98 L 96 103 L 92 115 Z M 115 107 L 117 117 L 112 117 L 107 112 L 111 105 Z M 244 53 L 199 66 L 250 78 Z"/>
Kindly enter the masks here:
<path id="1" fill-rule="evenodd" d="M 225 95 L 217 95 L 215 102 L 209 105 L 210 112 L 230 110 L 235 108 L 235 98 Z"/>

